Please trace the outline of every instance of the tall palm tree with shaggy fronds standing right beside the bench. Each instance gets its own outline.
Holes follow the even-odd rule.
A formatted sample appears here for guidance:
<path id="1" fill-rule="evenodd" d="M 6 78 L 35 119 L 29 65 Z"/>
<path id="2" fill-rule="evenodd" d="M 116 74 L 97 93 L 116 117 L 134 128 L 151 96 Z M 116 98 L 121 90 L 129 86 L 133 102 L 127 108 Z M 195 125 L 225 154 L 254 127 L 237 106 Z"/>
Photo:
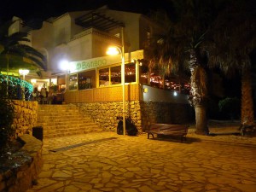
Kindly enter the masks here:
<path id="1" fill-rule="evenodd" d="M 190 104 L 195 108 L 196 133 L 208 134 L 207 128 L 207 71 L 208 52 L 204 45 L 209 26 L 216 17 L 218 4 L 214 1 L 172 1 L 176 17 L 161 44 L 148 51 L 152 63 L 166 73 L 190 72 Z M 156 54 L 154 53 L 156 52 Z"/>

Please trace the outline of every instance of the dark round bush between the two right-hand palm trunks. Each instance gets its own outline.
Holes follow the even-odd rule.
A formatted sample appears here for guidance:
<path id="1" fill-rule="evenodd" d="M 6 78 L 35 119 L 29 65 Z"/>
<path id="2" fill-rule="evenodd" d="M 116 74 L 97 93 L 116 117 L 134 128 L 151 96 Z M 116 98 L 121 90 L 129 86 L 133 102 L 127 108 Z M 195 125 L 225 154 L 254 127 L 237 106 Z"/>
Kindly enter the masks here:
<path id="1" fill-rule="evenodd" d="M 236 119 L 240 116 L 241 103 L 236 97 L 227 97 L 218 102 L 218 108 L 224 117 Z"/>

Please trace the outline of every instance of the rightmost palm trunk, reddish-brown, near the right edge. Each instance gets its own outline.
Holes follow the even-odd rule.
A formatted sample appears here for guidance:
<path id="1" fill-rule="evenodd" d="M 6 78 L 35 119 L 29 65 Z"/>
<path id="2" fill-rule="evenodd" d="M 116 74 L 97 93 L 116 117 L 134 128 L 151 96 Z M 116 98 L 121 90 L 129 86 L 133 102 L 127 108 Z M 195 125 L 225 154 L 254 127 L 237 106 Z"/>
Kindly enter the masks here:
<path id="1" fill-rule="evenodd" d="M 252 79 L 248 70 L 241 74 L 241 124 L 254 124 Z"/>

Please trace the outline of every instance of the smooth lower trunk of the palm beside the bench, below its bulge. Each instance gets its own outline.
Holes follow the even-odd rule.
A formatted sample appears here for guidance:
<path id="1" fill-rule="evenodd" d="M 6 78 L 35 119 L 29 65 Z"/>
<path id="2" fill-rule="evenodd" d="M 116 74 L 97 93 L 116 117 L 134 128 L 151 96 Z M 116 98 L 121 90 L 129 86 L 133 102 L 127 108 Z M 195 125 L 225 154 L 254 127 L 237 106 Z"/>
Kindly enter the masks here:
<path id="1" fill-rule="evenodd" d="M 198 135 L 208 135 L 207 108 L 205 105 L 195 105 L 195 133 Z"/>

